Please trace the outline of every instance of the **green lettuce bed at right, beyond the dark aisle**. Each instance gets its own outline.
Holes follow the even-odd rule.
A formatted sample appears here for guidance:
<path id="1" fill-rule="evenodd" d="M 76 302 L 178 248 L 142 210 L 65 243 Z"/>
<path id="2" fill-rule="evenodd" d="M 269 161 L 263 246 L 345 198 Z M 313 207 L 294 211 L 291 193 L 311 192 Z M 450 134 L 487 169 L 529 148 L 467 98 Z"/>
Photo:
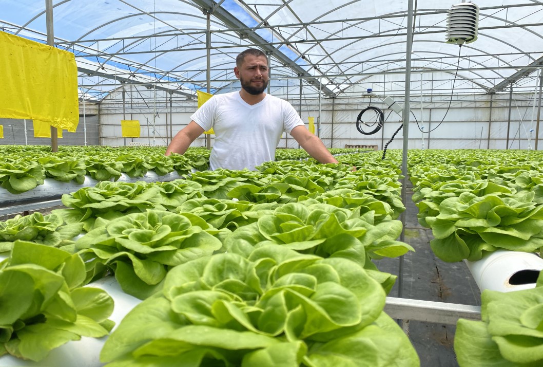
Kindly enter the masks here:
<path id="1" fill-rule="evenodd" d="M 410 151 L 418 220 L 446 262 L 497 250 L 543 254 L 543 153 Z M 463 366 L 543 364 L 543 273 L 535 289 L 484 290 L 481 321 L 459 320 L 454 350 Z"/>

